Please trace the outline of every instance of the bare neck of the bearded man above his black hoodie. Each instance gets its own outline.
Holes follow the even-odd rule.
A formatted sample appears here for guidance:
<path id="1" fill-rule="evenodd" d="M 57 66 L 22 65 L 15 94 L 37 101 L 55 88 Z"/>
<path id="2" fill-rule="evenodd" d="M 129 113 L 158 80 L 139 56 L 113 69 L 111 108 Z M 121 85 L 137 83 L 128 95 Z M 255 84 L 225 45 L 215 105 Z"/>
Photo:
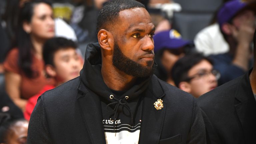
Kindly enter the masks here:
<path id="1" fill-rule="evenodd" d="M 136 77 L 127 75 L 126 73 L 118 70 L 113 65 L 105 66 L 102 64 L 101 74 L 105 84 L 112 90 L 123 91 L 128 90 L 133 86 Z"/>

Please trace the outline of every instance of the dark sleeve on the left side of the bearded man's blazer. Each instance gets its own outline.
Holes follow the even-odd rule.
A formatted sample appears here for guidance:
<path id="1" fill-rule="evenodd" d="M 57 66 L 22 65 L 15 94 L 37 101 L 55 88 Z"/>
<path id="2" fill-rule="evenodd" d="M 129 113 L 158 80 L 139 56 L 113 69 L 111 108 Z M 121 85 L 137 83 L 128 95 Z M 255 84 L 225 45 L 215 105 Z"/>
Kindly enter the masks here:
<path id="1" fill-rule="evenodd" d="M 52 144 L 50 138 L 47 116 L 43 98 L 39 97 L 38 102 L 31 114 L 28 126 L 27 144 Z"/>

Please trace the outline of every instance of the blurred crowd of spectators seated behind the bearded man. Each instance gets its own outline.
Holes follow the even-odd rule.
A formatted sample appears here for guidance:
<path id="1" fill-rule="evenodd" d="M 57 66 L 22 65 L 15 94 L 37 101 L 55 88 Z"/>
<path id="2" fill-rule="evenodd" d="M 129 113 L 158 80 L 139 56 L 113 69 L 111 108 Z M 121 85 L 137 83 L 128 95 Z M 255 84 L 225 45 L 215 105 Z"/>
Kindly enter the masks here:
<path id="1" fill-rule="evenodd" d="M 213 23 L 193 40 L 182 38 L 172 28 L 170 14 L 161 9 L 178 1 L 137 1 L 146 6 L 156 27 L 155 75 L 159 79 L 198 98 L 252 68 L 253 0 L 223 1 Z M 5 11 L 0 11 L 0 143 L 17 137 L 25 143 L 24 128 L 38 97 L 79 76 L 86 45 L 98 41 L 97 15 L 106 2 L 1 0 Z M 21 134 L 12 135 L 14 131 Z"/>

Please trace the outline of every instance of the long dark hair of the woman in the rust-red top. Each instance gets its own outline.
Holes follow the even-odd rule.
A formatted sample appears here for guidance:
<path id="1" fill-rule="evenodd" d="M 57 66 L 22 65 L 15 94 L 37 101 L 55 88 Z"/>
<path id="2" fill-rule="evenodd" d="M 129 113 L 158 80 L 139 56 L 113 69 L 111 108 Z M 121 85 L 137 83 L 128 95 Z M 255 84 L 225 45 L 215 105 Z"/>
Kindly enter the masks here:
<path id="1" fill-rule="evenodd" d="M 29 78 L 36 77 L 39 72 L 35 72 L 31 69 L 32 50 L 34 47 L 30 39 L 30 34 L 26 33 L 23 29 L 23 23 L 31 22 L 31 18 L 34 13 L 34 6 L 39 3 L 46 3 L 51 6 L 51 3 L 46 0 L 33 0 L 24 3 L 24 6 L 20 10 L 17 37 L 14 45 L 12 46 L 13 48 L 17 47 L 19 49 L 18 66 Z"/>

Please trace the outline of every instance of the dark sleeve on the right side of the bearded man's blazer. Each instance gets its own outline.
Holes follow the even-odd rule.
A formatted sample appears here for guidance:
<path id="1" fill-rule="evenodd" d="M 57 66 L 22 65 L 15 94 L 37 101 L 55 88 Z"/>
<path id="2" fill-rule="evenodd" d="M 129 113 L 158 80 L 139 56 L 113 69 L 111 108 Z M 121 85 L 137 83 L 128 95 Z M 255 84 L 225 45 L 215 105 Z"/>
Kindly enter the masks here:
<path id="1" fill-rule="evenodd" d="M 205 144 L 205 125 L 204 120 L 200 111 L 200 108 L 197 106 L 196 100 L 194 100 L 194 108 L 192 115 L 192 124 L 190 133 L 187 139 L 188 144 Z"/>

